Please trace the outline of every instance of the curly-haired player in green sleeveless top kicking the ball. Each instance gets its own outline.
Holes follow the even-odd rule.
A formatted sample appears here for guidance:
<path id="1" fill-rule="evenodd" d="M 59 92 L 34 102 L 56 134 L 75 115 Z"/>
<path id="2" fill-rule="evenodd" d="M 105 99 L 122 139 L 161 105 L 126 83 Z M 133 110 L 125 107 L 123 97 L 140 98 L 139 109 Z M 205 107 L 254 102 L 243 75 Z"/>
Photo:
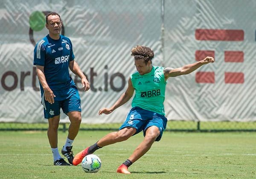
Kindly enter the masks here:
<path id="1" fill-rule="evenodd" d="M 204 60 L 180 68 L 153 66 L 154 52 L 148 47 L 139 45 L 132 48 L 131 55 L 134 56 L 134 65 L 137 72 L 130 75 L 128 88 L 111 108 L 99 110 L 99 115 L 111 114 L 116 108 L 128 102 L 135 91 L 131 104 L 132 108 L 128 112 L 125 122 L 119 128 L 119 131 L 107 134 L 95 144 L 76 154 L 73 165 L 78 165 L 84 156 L 94 153 L 99 148 L 127 140 L 143 131 L 143 141 L 117 169 L 117 173 L 130 174 L 128 167 L 140 159 L 151 148 L 154 141 L 160 141 L 166 128 L 167 119 L 164 116 L 163 102 L 167 79 L 189 74 L 202 65 L 214 62 L 213 57 L 206 57 Z"/>

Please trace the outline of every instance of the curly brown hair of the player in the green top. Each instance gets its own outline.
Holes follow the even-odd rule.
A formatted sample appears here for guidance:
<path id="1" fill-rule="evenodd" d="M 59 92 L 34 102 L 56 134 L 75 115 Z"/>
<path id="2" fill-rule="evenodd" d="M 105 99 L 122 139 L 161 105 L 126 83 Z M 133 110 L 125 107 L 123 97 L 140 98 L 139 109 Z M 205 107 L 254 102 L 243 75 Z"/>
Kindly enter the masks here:
<path id="1" fill-rule="evenodd" d="M 148 47 L 137 45 L 136 47 L 131 49 L 131 56 L 134 56 L 135 60 L 143 58 L 147 63 L 154 58 L 154 51 L 152 51 Z"/>

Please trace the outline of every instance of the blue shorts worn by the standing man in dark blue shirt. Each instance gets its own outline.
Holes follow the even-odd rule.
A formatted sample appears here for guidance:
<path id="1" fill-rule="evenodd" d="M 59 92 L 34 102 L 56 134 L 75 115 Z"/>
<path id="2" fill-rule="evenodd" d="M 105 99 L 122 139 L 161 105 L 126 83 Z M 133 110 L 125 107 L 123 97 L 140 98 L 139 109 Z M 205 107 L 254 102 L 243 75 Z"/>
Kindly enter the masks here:
<path id="1" fill-rule="evenodd" d="M 78 89 L 76 86 L 63 91 L 54 91 L 55 96 L 61 97 L 61 100 L 56 101 L 51 104 L 44 99 L 42 96 L 42 105 L 44 106 L 44 118 L 49 119 L 54 116 L 61 114 L 60 109 L 67 114 L 70 111 L 80 111 L 81 112 L 81 99 L 79 96 Z"/>

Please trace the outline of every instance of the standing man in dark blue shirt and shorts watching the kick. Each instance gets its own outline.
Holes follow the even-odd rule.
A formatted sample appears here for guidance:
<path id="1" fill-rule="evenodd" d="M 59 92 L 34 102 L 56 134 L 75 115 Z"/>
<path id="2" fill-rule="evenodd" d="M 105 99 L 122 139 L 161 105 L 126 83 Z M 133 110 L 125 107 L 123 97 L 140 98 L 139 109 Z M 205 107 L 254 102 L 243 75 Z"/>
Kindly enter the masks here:
<path id="1" fill-rule="evenodd" d="M 48 119 L 47 131 L 53 154 L 54 165 L 70 165 L 73 162 L 72 143 L 78 134 L 81 123 L 81 100 L 78 89 L 71 79 L 69 69 L 81 78 L 84 91 L 90 85 L 75 62 L 73 45 L 68 37 L 60 35 L 61 17 L 57 12 L 46 16 L 46 28 L 49 34 L 41 39 L 34 50 L 34 65 L 40 82 L 41 103 L 44 106 L 44 118 Z M 67 157 L 67 163 L 58 152 L 58 125 L 60 109 L 70 119 L 68 136 L 61 153 Z"/>

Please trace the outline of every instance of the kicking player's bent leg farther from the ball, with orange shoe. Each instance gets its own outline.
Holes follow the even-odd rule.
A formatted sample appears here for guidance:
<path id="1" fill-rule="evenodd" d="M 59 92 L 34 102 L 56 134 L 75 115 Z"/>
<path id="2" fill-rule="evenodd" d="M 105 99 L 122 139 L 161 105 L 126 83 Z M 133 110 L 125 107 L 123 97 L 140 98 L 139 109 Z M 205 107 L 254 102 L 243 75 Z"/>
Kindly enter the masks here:
<path id="1" fill-rule="evenodd" d="M 131 156 L 119 166 L 117 173 L 130 174 L 128 167 L 142 157 L 152 146 L 154 141 L 160 135 L 160 131 L 156 126 L 151 126 L 147 129 L 143 142 L 134 150 Z"/>

